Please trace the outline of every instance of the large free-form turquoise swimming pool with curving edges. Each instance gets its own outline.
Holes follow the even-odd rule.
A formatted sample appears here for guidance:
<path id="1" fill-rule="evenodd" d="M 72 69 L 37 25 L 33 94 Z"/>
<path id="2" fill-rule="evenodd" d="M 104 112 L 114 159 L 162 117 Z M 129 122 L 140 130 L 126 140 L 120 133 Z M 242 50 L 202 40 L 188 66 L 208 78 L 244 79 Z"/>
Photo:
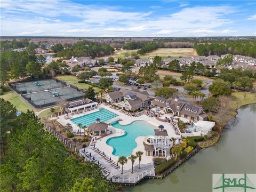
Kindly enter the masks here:
<path id="1" fill-rule="evenodd" d="M 109 138 L 107 145 L 114 148 L 113 155 L 126 157 L 131 155 L 132 150 L 137 147 L 135 142 L 137 137 L 155 135 L 154 129 L 158 129 L 157 126 L 145 121 L 134 121 L 129 125 L 120 125 L 118 122 L 113 122 L 111 125 L 124 130 L 125 134 L 120 137 Z"/>

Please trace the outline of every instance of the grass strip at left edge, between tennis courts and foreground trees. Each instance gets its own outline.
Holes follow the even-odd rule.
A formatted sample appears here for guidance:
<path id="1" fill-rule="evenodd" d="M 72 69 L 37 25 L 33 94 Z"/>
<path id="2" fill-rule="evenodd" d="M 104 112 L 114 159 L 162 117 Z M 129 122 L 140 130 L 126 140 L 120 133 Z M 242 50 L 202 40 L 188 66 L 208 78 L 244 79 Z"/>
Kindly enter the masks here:
<path id="1" fill-rule="evenodd" d="M 36 109 L 31 106 L 28 102 L 26 102 L 18 93 L 15 91 L 5 92 L 3 95 L 0 96 L 4 100 L 10 101 L 12 105 L 14 105 L 19 111 L 26 112 L 27 109 L 39 111 L 40 109 Z"/>

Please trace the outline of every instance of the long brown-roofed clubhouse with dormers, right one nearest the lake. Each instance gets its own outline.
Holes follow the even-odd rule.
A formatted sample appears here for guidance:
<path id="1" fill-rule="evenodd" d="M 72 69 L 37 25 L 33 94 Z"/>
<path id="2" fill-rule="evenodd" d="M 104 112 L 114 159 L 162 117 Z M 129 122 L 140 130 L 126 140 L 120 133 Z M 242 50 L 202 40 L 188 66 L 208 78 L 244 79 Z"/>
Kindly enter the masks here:
<path id="1" fill-rule="evenodd" d="M 151 103 L 155 107 L 159 107 L 162 110 L 164 110 L 165 113 L 171 113 L 173 117 L 181 116 L 191 119 L 192 121 L 205 121 L 207 119 L 207 116 L 203 108 L 188 105 L 185 101 L 180 101 L 179 97 L 176 97 L 175 99 L 165 99 L 161 97 L 156 97 Z"/>

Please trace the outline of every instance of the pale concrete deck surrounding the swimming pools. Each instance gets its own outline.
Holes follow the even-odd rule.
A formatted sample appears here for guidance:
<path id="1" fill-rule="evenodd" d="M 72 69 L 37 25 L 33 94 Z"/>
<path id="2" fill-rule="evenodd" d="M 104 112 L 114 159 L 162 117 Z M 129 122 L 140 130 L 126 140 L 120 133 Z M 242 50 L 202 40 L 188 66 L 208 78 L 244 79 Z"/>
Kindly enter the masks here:
<path id="1" fill-rule="evenodd" d="M 172 138 L 172 137 L 173 138 L 180 138 L 181 137 L 180 135 L 175 134 L 175 132 L 173 130 L 173 127 L 170 125 L 170 123 L 161 122 L 161 121 L 158 121 L 155 117 L 149 117 L 149 116 L 146 116 L 146 115 L 141 115 L 139 117 L 127 116 L 127 115 L 119 112 L 119 110 L 115 110 L 115 109 L 110 108 L 109 106 L 105 106 L 103 104 L 99 105 L 97 109 L 94 109 L 94 110 L 91 110 L 91 111 L 86 111 L 85 113 L 82 113 L 82 114 L 73 115 L 72 118 L 93 113 L 95 111 L 98 111 L 100 108 L 105 108 L 105 109 L 117 114 L 118 118 L 114 117 L 112 120 L 117 121 L 117 119 L 119 119 L 120 120 L 119 124 L 121 124 L 121 125 L 127 125 L 127 124 L 130 124 L 130 123 L 134 122 L 134 121 L 140 120 L 140 121 L 146 121 L 150 124 L 155 125 L 156 129 L 157 129 L 157 126 L 162 124 L 165 127 L 165 130 L 167 131 L 167 133 L 169 135 L 169 138 Z M 170 115 L 165 114 L 161 118 L 165 118 L 165 116 L 170 117 Z M 74 124 L 73 122 L 71 122 L 70 119 L 65 119 L 64 115 L 59 116 L 57 121 L 62 125 L 66 125 L 67 123 L 70 123 L 73 126 L 73 130 L 75 132 L 78 132 L 78 130 L 79 130 L 79 127 L 76 124 Z M 99 148 L 99 150 L 101 150 L 102 152 L 104 151 L 106 156 L 111 157 L 111 159 L 114 162 L 117 163 L 119 157 L 112 154 L 113 147 L 107 145 L 106 141 L 109 138 L 121 136 L 121 135 L 125 134 L 125 132 L 124 132 L 124 130 L 117 129 L 117 128 L 111 126 L 111 125 L 109 125 L 108 130 L 112 131 L 112 133 L 107 135 L 106 137 L 97 139 L 97 142 L 95 143 L 95 147 Z M 81 129 L 81 132 L 83 132 L 83 129 Z M 124 174 L 121 174 L 121 166 L 120 166 L 119 169 L 115 169 L 113 166 L 111 166 L 110 163 L 108 163 L 106 161 L 105 158 L 101 157 L 96 151 L 94 151 L 92 149 L 94 146 L 88 146 L 88 147 L 85 148 L 85 150 L 87 150 L 89 153 L 91 153 L 91 155 L 94 156 L 94 158 L 97 159 L 101 163 L 101 165 L 105 166 L 110 171 L 110 173 L 107 175 L 107 177 L 110 177 L 110 178 L 111 177 L 114 177 L 114 178 L 117 178 L 117 177 L 119 177 L 119 178 L 136 178 L 139 175 L 141 175 L 143 172 L 145 173 L 145 171 L 150 172 L 150 173 L 151 172 L 153 173 L 155 171 L 154 164 L 153 164 L 153 157 L 152 156 L 146 156 L 146 154 L 145 154 L 145 149 L 144 149 L 144 145 L 143 145 L 144 139 L 145 139 L 145 137 L 142 137 L 142 136 L 137 137 L 135 139 L 135 142 L 137 143 L 137 147 L 135 147 L 133 149 L 132 154 L 135 155 L 135 153 L 137 151 L 143 151 L 144 153 L 143 153 L 142 158 L 141 158 L 141 169 L 138 169 L 139 160 L 136 159 L 135 162 L 134 162 L 134 168 L 133 168 L 134 173 L 133 174 L 131 173 L 132 163 L 129 159 L 128 159 L 127 164 L 125 164 L 124 167 L 123 167 L 123 173 Z M 123 145 L 125 145 L 125 143 L 123 143 Z M 167 150 L 167 156 L 170 156 L 170 148 L 172 147 L 172 142 L 171 141 L 169 142 L 169 145 L 170 145 L 170 147 Z M 79 151 L 80 151 L 80 153 L 82 153 L 82 155 L 85 156 L 85 154 L 83 154 L 83 150 L 84 149 L 81 149 Z"/>

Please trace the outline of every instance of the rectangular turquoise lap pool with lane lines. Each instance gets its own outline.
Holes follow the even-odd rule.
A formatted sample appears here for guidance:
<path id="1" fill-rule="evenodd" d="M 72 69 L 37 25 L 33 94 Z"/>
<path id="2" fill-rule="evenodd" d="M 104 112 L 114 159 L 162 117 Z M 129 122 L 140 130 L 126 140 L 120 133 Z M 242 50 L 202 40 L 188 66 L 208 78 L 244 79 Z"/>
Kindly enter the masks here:
<path id="1" fill-rule="evenodd" d="M 71 122 L 78 124 L 82 123 L 82 125 L 89 126 L 90 124 L 94 123 L 97 118 L 100 118 L 101 122 L 106 122 L 111 118 L 117 117 L 118 115 L 107 110 L 107 109 L 100 109 L 99 111 L 95 111 L 90 114 L 86 114 L 80 117 L 76 117 L 71 119 Z"/>

